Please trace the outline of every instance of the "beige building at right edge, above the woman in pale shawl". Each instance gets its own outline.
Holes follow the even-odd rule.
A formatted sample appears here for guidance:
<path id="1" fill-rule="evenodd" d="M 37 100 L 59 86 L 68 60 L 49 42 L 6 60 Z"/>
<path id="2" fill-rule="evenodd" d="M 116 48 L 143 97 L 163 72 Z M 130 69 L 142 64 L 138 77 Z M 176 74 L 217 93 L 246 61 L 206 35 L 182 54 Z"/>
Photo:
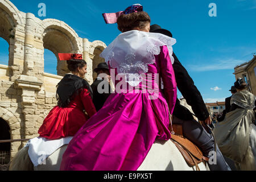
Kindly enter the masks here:
<path id="1" fill-rule="evenodd" d="M 243 78 L 249 85 L 249 90 L 256 96 L 256 55 L 250 61 L 238 65 L 234 68 L 236 80 L 238 77 Z"/>

